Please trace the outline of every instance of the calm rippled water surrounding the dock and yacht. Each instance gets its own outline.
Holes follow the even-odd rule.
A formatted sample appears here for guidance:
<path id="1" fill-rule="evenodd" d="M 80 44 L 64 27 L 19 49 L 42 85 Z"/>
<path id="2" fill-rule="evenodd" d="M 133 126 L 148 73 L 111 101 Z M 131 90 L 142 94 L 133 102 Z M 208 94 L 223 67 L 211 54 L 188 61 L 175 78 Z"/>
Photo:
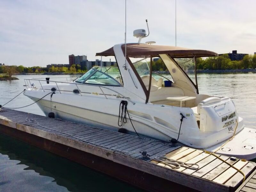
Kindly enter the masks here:
<path id="1" fill-rule="evenodd" d="M 168 76 L 168 75 L 167 75 Z M 0 104 L 4 104 L 24 87 L 24 78 L 76 76 L 17 76 L 20 80 L 0 81 Z M 56 79 L 61 81 L 61 79 Z M 199 93 L 228 96 L 236 104 L 247 127 L 256 128 L 256 73 L 199 74 Z M 66 79 L 62 79 L 64 81 Z M 21 94 L 5 107 L 21 107 L 32 103 Z M 31 105 L 18 109 L 44 115 Z M 120 170 L 121 171 L 121 170 Z M 125 173 L 124 173 L 125 174 Z M 0 191 L 140 191 L 124 182 L 93 171 L 65 158 L 0 134 Z"/>

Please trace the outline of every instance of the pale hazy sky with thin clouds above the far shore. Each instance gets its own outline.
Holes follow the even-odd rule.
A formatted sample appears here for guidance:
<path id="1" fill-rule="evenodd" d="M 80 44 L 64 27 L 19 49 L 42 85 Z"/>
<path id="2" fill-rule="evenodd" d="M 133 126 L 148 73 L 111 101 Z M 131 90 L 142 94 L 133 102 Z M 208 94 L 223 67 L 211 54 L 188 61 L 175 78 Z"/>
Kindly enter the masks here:
<path id="1" fill-rule="evenodd" d="M 175 0 L 127 0 L 127 42 L 175 46 Z M 217 53 L 256 52 L 255 0 L 177 0 L 177 46 Z M 124 43 L 125 0 L 0 0 L 0 63 L 68 64 L 68 55 L 100 59 Z M 104 60 L 104 58 L 102 59 Z"/>

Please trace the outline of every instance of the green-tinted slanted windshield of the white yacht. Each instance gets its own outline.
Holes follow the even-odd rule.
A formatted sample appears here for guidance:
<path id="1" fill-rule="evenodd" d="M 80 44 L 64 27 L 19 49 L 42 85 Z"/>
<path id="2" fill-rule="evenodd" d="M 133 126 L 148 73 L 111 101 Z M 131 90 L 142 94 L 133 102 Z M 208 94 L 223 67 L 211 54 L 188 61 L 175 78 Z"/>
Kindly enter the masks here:
<path id="1" fill-rule="evenodd" d="M 106 73 L 106 70 L 101 69 L 99 71 L 97 68 L 91 68 L 83 76 L 79 77 L 76 82 L 85 84 L 98 84 L 98 85 L 111 85 L 111 86 L 121 86 L 122 84 L 118 81 L 120 79 L 113 78 Z M 105 73 L 104 73 L 105 72 Z"/>

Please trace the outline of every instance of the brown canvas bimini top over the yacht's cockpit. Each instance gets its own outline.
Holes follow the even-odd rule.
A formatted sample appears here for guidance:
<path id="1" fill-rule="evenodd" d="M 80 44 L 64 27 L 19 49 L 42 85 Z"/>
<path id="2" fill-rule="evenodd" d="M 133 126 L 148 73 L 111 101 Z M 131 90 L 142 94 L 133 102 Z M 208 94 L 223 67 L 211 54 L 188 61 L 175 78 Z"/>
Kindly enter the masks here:
<path id="1" fill-rule="evenodd" d="M 125 44 L 122 45 L 123 52 Z M 188 49 L 175 46 L 150 45 L 150 44 L 126 44 L 126 55 L 128 57 L 144 57 L 152 55 L 157 57 L 159 54 L 168 54 L 173 58 L 193 58 L 193 57 L 214 57 L 217 53 L 206 50 Z M 114 48 L 96 53 L 96 56 L 115 56 Z"/>

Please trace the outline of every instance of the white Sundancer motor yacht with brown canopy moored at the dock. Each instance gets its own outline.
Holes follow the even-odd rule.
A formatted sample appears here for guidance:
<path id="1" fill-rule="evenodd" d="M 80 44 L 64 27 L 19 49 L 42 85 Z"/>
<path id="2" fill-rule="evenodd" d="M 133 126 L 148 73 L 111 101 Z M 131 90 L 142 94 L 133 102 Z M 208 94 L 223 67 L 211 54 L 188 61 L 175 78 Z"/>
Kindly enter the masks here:
<path id="1" fill-rule="evenodd" d="M 117 66 L 93 67 L 74 81 L 25 79 L 24 95 L 34 101 L 43 97 L 37 105 L 46 116 L 166 142 L 178 140 L 227 156 L 256 157 L 256 131 L 244 127 L 234 102 L 199 94 L 196 58 L 217 53 L 133 43 L 116 44 L 96 56 L 115 57 Z M 158 58 L 169 77 L 152 71 Z M 184 69 L 178 58 L 192 60 L 194 68 Z M 49 92 L 54 94 L 45 96 Z"/>

